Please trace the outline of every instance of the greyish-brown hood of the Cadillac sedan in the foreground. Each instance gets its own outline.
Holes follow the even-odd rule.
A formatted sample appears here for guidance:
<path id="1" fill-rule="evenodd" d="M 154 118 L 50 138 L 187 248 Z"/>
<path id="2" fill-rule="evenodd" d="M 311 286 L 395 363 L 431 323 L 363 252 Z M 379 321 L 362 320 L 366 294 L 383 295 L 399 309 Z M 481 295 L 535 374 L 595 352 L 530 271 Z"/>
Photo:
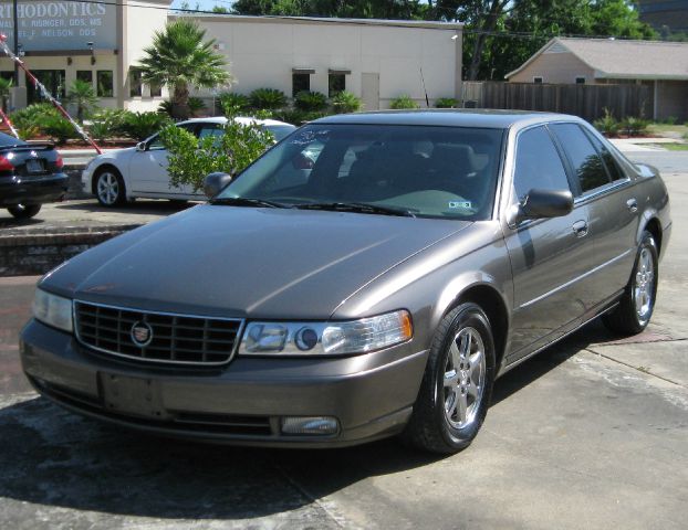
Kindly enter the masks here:
<path id="1" fill-rule="evenodd" d="M 144 310 L 323 319 L 374 278 L 469 224 L 205 204 L 74 257 L 42 286 Z"/>

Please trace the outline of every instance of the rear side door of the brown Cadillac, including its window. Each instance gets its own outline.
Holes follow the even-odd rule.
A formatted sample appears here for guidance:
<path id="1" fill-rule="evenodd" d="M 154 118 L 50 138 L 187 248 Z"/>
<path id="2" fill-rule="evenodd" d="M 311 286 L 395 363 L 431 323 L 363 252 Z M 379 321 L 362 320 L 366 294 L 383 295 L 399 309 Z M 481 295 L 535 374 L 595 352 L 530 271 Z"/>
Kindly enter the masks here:
<path id="1" fill-rule="evenodd" d="M 590 211 L 594 241 L 594 273 L 590 284 L 595 303 L 603 304 L 628 283 L 638 229 L 637 189 L 604 144 L 580 124 L 551 126 L 577 187 L 576 202 Z"/>

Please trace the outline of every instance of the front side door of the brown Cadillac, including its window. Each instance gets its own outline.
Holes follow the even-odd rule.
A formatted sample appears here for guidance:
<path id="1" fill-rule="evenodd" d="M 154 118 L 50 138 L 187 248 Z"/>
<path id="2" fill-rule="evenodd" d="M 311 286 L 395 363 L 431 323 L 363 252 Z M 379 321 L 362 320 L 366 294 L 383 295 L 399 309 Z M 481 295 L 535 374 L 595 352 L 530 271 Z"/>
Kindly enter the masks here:
<path id="1" fill-rule="evenodd" d="M 515 140 L 511 204 L 533 188 L 570 190 L 564 160 L 545 126 L 522 130 Z M 591 305 L 594 248 L 587 234 L 588 205 L 565 216 L 524 221 L 505 231 L 511 258 L 514 308 L 509 362 L 575 327 Z"/>

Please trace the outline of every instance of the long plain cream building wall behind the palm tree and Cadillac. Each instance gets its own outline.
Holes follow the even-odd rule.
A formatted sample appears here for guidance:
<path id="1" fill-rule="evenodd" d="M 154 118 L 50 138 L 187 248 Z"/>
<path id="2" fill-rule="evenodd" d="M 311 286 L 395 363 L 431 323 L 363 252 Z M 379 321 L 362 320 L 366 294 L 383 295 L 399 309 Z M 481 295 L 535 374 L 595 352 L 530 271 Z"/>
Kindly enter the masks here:
<path id="1" fill-rule="evenodd" d="M 207 35 L 230 62 L 233 92 L 249 94 L 260 87 L 292 91 L 292 68 L 315 70 L 311 89 L 327 94 L 327 74 L 350 70 L 346 89 L 361 96 L 361 74 L 379 74 L 381 107 L 409 94 L 425 106 L 420 67 L 430 99 L 456 97 L 455 74 L 460 70 L 457 26 L 414 28 L 285 21 L 236 17 L 198 19 Z M 460 36 L 459 36 L 460 39 Z M 460 61 L 460 57 L 458 57 Z M 201 95 L 208 97 L 209 92 Z"/>

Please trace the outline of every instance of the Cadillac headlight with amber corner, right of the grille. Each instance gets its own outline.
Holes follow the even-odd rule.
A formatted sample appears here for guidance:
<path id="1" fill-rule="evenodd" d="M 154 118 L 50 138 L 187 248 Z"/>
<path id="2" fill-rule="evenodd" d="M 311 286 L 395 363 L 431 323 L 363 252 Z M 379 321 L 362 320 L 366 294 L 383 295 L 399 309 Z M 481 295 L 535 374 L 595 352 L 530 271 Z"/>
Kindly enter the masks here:
<path id="1" fill-rule="evenodd" d="M 413 335 L 410 315 L 405 310 L 346 322 L 250 322 L 239 354 L 366 353 L 405 342 Z"/>

